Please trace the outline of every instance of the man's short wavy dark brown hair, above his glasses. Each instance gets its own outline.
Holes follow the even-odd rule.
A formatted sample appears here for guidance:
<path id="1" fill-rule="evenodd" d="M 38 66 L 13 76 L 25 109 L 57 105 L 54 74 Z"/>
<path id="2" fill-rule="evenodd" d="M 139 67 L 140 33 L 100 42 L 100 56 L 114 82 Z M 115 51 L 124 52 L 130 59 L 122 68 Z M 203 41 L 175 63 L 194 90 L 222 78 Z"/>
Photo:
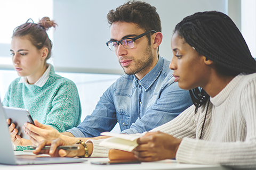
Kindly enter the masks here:
<path id="1" fill-rule="evenodd" d="M 114 22 L 132 22 L 145 31 L 162 31 L 161 20 L 156 12 L 156 7 L 146 2 L 129 1 L 117 7 L 116 10 L 109 11 L 107 19 L 110 25 Z M 147 35 L 149 41 L 150 35 Z"/>

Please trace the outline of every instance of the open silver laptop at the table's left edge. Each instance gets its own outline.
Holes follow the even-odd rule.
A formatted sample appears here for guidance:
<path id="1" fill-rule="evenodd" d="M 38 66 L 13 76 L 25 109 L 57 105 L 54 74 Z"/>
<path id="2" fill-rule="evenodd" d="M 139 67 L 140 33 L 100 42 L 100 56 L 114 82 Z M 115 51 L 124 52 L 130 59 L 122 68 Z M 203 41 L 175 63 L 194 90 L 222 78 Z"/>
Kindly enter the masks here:
<path id="1" fill-rule="evenodd" d="M 61 163 L 81 163 L 86 159 L 62 158 L 62 157 L 42 157 L 36 155 L 14 155 L 12 142 L 6 123 L 3 105 L 0 99 L 0 164 L 7 165 L 29 165 L 29 164 L 61 164 Z"/>

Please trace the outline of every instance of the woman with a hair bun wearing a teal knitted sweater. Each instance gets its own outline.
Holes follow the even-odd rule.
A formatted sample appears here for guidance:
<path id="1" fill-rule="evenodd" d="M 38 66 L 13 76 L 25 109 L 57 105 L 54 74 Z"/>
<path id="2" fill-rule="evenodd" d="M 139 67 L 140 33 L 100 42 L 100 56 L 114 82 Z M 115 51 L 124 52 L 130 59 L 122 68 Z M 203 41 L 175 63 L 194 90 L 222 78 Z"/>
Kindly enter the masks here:
<path id="1" fill-rule="evenodd" d="M 77 87 L 73 81 L 55 74 L 53 66 L 46 63 L 52 50 L 52 41 L 46 31 L 57 24 L 48 17 L 38 23 L 29 20 L 13 31 L 10 51 L 20 78 L 10 84 L 3 106 L 26 108 L 35 124 L 38 121 L 64 132 L 81 123 Z M 19 146 L 32 145 L 30 140 L 17 135 L 13 123 L 9 130 L 17 150 L 24 149 Z"/>

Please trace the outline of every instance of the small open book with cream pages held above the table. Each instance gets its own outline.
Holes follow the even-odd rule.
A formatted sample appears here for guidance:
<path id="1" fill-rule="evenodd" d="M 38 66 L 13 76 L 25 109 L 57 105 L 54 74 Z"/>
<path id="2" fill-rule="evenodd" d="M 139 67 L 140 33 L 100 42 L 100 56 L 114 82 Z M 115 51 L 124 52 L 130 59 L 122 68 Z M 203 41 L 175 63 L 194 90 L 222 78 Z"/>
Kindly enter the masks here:
<path id="1" fill-rule="evenodd" d="M 100 142 L 100 146 L 129 151 L 129 152 L 138 146 L 137 139 L 142 137 L 143 135 L 140 133 L 117 134 L 117 133 L 110 133 L 110 132 L 102 132 L 100 134 L 111 137 Z"/>

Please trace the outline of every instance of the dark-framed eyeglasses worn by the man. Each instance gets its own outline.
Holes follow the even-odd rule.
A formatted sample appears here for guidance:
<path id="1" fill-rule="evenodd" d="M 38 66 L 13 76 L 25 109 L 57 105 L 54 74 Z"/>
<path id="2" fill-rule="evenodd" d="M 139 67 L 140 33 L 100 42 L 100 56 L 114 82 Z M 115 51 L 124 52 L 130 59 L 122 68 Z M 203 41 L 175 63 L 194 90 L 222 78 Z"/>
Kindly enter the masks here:
<path id="1" fill-rule="evenodd" d="M 108 48 L 109 48 L 111 51 L 113 51 L 113 52 L 115 52 L 115 51 L 117 50 L 117 48 L 118 48 L 118 46 L 119 46 L 120 44 L 122 44 L 122 46 L 123 46 L 124 48 L 126 48 L 126 49 L 131 49 L 131 48 L 133 48 L 133 47 L 135 46 L 135 43 L 134 43 L 135 40 L 137 40 L 137 39 L 139 39 L 139 38 L 141 38 L 141 37 L 147 35 L 149 32 L 154 32 L 154 33 L 156 33 L 155 30 L 151 30 L 151 31 L 147 31 L 147 32 L 145 32 L 145 33 L 142 33 L 141 35 L 136 36 L 136 37 L 134 37 L 134 38 L 125 38 L 125 39 L 121 39 L 120 41 L 110 40 L 110 41 L 108 41 L 108 42 L 106 43 L 106 45 L 107 45 Z"/>

